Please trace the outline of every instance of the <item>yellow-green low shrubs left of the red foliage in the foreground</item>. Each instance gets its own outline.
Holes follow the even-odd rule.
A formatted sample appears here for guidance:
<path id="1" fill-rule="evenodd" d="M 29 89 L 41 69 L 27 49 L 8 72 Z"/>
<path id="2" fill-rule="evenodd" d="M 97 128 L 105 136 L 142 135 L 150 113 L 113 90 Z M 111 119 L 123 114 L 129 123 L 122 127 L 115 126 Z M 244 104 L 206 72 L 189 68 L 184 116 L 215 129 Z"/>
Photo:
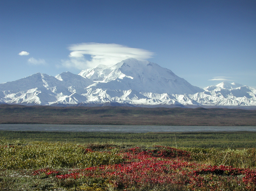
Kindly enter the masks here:
<path id="1" fill-rule="evenodd" d="M 0 169 L 85 168 L 120 163 L 123 160 L 113 152 L 94 153 L 74 144 L 34 142 L 25 145 L 6 144 L 1 139 Z"/>

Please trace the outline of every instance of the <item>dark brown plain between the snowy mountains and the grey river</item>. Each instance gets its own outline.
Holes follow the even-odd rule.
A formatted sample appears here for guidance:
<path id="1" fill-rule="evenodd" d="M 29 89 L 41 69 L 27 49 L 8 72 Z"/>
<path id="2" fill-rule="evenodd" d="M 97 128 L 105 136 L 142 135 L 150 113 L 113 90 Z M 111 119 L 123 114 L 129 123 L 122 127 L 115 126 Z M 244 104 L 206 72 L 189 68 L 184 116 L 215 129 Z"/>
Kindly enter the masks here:
<path id="1" fill-rule="evenodd" d="M 0 123 L 256 126 L 256 110 L 0 105 Z"/>

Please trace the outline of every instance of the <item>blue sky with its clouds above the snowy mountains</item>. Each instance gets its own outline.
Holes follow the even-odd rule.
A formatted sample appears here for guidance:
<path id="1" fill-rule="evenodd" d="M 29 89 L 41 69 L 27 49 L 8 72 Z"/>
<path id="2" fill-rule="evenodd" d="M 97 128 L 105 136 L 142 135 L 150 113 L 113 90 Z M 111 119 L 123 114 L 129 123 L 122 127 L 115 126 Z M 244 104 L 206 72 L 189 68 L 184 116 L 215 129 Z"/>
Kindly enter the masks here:
<path id="1" fill-rule="evenodd" d="M 256 88 L 256 1 L 0 1 L 0 83 L 129 57 L 201 88 Z"/>

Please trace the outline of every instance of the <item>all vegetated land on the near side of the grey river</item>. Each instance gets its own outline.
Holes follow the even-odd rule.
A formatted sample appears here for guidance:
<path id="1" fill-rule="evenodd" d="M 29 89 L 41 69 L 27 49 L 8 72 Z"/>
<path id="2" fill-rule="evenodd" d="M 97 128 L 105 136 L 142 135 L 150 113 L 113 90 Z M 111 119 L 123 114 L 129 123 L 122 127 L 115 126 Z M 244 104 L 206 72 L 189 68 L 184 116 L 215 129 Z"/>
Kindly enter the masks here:
<path id="1" fill-rule="evenodd" d="M 1 191 L 256 191 L 254 132 L 0 137 Z"/>

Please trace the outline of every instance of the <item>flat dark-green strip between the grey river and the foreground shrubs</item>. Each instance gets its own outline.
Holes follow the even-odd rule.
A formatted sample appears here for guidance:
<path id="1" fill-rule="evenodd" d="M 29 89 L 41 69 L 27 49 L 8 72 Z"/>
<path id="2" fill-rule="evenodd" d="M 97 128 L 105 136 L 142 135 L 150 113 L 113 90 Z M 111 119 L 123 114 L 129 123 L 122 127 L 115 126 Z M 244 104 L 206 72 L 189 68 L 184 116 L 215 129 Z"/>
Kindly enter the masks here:
<path id="1" fill-rule="evenodd" d="M 256 148 L 256 132 L 111 133 L 0 131 L 8 141 L 48 141 L 74 144 L 165 145 L 170 147 Z"/>

